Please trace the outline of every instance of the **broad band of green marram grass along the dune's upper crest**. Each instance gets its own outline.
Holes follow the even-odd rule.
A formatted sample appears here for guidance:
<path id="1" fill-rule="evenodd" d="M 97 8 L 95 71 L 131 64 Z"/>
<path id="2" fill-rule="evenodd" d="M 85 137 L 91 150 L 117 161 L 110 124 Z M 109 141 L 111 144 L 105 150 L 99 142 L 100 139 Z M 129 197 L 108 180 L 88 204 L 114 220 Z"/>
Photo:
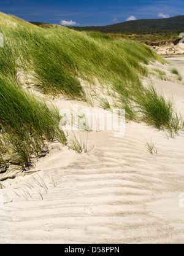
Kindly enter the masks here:
<path id="1" fill-rule="evenodd" d="M 6 17 L 13 20 L 13 17 Z M 63 93 L 85 100 L 79 77 L 98 79 L 102 83 L 139 82 L 147 76 L 143 64 L 163 61 L 150 48 L 133 41 L 113 40 L 100 33 L 85 33 L 69 28 L 42 29 L 14 20 L 2 25 L 4 48 L 1 67 L 4 74 L 15 77 L 17 69 L 33 72 L 35 85 L 47 94 Z M 6 58 L 5 58 L 6 57 Z"/>

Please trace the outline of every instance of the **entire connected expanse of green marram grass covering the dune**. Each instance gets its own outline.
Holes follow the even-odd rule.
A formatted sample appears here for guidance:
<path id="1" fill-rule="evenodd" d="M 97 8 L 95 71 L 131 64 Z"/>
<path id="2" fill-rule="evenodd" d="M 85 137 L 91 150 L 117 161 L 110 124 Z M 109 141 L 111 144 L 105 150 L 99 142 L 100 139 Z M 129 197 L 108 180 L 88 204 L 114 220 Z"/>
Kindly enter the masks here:
<path id="1" fill-rule="evenodd" d="M 18 72 L 34 76 L 42 93 L 83 101 L 87 96 L 80 80 L 97 80 L 113 91 L 113 101 L 125 108 L 126 118 L 142 119 L 159 129 L 180 129 L 182 121 L 172 101 L 142 85 L 150 61 L 166 62 L 144 44 L 62 26 L 43 29 L 2 13 L 0 33 L 0 162 L 24 166 L 31 155 L 40 153 L 44 141 L 66 141 L 57 109 L 23 90 Z"/>

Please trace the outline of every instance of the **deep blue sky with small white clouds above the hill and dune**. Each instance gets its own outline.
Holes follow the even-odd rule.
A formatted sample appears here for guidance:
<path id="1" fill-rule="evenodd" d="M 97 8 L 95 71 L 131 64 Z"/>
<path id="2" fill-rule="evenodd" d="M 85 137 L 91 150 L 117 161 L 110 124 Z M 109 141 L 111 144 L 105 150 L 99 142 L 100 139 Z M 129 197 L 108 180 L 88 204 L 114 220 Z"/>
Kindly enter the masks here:
<path id="1" fill-rule="evenodd" d="M 126 20 L 184 15 L 184 1 L 0 0 L 0 11 L 27 21 L 72 26 L 104 26 Z"/>

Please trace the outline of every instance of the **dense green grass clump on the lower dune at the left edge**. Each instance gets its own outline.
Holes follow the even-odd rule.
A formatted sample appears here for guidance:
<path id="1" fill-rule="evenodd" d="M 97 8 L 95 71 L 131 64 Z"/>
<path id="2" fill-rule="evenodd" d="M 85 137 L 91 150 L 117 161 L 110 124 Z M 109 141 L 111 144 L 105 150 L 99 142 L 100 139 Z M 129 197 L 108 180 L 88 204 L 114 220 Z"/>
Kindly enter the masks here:
<path id="1" fill-rule="evenodd" d="M 0 76 L 0 98 L 2 160 L 25 166 L 31 155 L 39 155 L 45 141 L 57 138 L 65 143 L 55 107 L 48 107 L 3 76 Z"/>

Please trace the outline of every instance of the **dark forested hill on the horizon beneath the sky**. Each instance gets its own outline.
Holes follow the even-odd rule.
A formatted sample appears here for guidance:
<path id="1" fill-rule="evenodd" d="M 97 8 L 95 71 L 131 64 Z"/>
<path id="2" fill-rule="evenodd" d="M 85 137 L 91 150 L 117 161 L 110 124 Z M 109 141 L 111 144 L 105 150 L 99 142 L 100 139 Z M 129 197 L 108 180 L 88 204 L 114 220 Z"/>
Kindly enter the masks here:
<path id="1" fill-rule="evenodd" d="M 132 20 L 108 26 L 74 27 L 79 31 L 99 31 L 102 33 L 161 33 L 184 31 L 184 15 L 172 18 Z"/>

